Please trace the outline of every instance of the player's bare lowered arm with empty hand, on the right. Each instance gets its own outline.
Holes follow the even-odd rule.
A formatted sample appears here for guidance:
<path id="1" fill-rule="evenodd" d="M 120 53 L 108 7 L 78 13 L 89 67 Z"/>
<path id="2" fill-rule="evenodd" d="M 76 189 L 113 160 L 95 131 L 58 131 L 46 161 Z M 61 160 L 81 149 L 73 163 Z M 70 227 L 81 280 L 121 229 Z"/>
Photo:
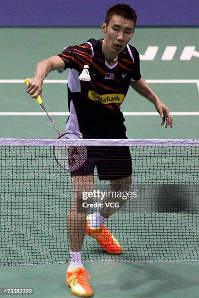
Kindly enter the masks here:
<path id="1" fill-rule="evenodd" d="M 158 95 L 153 92 L 153 90 L 149 87 L 149 85 L 145 82 L 145 80 L 141 77 L 137 81 L 131 82 L 131 87 L 140 95 L 151 101 L 156 111 L 159 112 L 159 115 L 162 117 L 162 123 L 164 124 L 166 120 L 165 128 L 167 128 L 169 125 L 172 128 L 173 127 L 173 117 L 170 114 L 169 108 L 167 108 L 159 99 Z"/>

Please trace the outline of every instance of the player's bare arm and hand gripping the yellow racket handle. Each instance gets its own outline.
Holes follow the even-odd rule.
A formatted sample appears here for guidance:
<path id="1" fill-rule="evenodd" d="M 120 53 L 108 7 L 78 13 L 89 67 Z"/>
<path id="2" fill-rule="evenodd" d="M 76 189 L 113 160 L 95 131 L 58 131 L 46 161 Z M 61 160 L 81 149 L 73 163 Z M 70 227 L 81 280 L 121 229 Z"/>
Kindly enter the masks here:
<path id="1" fill-rule="evenodd" d="M 35 77 L 29 80 L 26 88 L 27 93 L 36 98 L 42 92 L 42 84 L 44 78 L 54 70 L 63 69 L 65 64 L 59 56 L 52 56 L 50 58 L 40 61 L 35 69 Z"/>

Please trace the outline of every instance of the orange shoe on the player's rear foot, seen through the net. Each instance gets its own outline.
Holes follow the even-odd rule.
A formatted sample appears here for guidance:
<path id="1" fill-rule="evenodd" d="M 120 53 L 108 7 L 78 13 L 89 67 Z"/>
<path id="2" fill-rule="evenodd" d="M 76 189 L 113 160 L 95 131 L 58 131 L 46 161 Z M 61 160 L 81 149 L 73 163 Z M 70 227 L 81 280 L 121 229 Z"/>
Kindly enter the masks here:
<path id="1" fill-rule="evenodd" d="M 89 216 L 86 218 L 86 234 L 97 240 L 102 249 L 109 254 L 120 254 L 122 252 L 119 241 L 111 234 L 104 225 L 94 228 L 89 226 Z"/>

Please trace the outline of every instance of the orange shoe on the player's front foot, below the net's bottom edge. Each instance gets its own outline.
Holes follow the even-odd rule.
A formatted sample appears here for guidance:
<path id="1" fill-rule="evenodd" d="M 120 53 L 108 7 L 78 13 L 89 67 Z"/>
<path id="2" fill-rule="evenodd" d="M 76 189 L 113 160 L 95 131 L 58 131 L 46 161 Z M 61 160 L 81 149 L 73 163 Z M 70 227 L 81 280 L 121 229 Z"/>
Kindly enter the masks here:
<path id="1" fill-rule="evenodd" d="M 90 279 L 90 275 L 88 271 L 82 267 L 74 268 L 72 271 L 67 270 L 66 272 L 66 283 L 70 287 L 72 294 L 75 296 L 93 296 L 93 290 L 87 279 Z"/>

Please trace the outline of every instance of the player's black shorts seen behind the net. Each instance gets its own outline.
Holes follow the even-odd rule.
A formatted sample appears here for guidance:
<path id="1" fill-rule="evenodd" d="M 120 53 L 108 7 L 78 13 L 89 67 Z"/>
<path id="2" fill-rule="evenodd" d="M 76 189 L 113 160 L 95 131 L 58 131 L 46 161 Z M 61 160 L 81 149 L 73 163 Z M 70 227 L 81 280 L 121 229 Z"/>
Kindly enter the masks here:
<path id="1" fill-rule="evenodd" d="M 97 167 L 100 180 L 113 180 L 132 174 L 132 161 L 129 147 L 126 146 L 87 146 L 85 164 L 71 176 L 92 175 Z"/>

